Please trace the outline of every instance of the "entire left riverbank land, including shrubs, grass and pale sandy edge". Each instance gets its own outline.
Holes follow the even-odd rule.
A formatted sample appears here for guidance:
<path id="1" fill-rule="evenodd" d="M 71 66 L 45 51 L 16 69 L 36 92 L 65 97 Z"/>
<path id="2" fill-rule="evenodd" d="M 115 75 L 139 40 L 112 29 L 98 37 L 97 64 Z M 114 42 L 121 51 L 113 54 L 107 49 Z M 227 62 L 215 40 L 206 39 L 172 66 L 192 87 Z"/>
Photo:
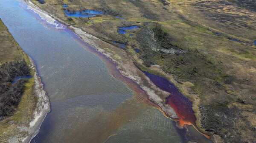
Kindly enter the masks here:
<path id="1" fill-rule="evenodd" d="M 35 65 L 0 20 L 0 142 L 29 142 L 49 112 Z M 17 79 L 18 76 L 31 76 Z"/>

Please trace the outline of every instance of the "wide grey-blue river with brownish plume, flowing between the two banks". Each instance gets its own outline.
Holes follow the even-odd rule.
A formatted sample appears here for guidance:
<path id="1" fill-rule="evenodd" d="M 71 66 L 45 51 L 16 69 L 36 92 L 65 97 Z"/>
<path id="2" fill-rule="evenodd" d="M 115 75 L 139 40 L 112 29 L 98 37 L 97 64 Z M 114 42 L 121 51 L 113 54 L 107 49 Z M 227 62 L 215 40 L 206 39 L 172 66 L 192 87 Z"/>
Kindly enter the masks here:
<path id="1" fill-rule="evenodd" d="M 50 99 L 32 143 L 184 142 L 184 129 L 67 28 L 47 24 L 23 1 L 0 0 L 0 18 L 34 60 Z"/>

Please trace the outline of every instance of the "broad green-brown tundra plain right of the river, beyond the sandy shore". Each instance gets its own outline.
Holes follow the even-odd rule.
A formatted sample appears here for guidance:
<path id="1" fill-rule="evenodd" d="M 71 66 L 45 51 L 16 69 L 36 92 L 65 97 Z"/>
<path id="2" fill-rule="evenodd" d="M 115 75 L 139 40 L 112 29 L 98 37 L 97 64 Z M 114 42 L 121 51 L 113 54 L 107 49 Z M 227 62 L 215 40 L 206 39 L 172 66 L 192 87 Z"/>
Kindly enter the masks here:
<path id="1" fill-rule="evenodd" d="M 198 128 L 215 143 L 256 140 L 255 1 L 31 1 L 105 42 L 124 43 L 141 70 L 166 77 L 193 102 Z M 105 14 L 71 19 L 64 10 Z M 143 27 L 118 34 L 130 25 Z"/>

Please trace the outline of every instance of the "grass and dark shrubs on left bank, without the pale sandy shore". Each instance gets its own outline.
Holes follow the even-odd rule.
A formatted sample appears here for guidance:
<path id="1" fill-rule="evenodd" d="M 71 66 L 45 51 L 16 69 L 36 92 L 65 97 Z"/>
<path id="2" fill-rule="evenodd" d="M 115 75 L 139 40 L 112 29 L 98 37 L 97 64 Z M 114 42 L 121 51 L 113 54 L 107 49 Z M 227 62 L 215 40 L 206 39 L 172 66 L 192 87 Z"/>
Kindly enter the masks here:
<path id="1" fill-rule="evenodd" d="M 20 130 L 29 126 L 38 99 L 33 93 L 34 70 L 29 58 L 1 20 L 0 43 L 0 142 L 6 143 L 27 134 Z M 32 78 L 12 83 L 15 77 L 27 75 Z"/>

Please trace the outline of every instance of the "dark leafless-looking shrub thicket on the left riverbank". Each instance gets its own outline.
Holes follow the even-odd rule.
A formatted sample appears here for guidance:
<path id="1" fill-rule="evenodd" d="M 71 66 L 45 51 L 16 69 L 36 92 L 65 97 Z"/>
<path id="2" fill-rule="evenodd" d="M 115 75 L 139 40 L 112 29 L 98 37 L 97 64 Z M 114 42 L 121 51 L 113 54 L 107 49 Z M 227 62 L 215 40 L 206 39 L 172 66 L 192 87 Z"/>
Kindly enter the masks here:
<path id="1" fill-rule="evenodd" d="M 5 63 L 0 66 L 0 120 L 11 116 L 22 97 L 26 79 L 11 82 L 16 76 L 26 76 L 30 69 L 23 59 Z"/>

